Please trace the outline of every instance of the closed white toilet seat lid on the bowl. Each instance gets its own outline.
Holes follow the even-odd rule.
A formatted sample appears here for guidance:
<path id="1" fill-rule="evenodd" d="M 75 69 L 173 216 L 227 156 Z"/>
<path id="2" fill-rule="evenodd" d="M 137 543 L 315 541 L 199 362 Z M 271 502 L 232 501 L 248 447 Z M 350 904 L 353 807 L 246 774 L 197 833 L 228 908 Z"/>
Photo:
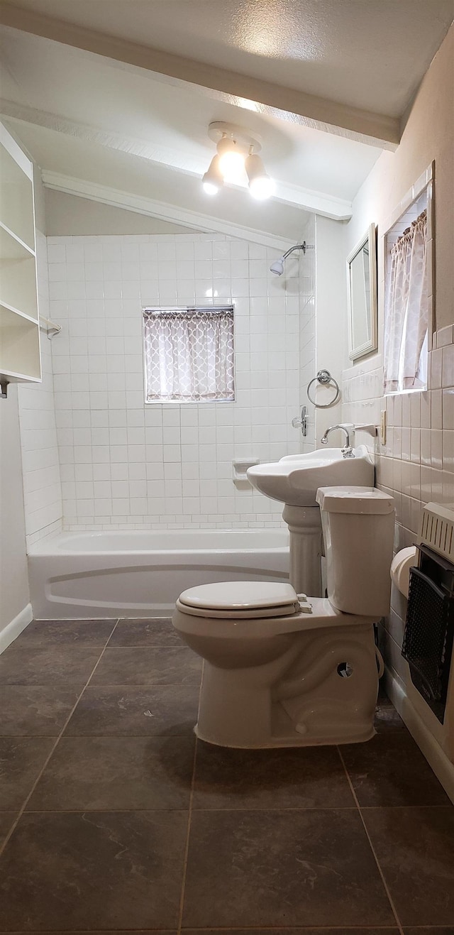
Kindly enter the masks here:
<path id="1" fill-rule="evenodd" d="M 181 604 L 206 610 L 250 610 L 283 607 L 297 600 L 291 584 L 280 582 L 220 582 L 188 588 L 179 596 Z"/>

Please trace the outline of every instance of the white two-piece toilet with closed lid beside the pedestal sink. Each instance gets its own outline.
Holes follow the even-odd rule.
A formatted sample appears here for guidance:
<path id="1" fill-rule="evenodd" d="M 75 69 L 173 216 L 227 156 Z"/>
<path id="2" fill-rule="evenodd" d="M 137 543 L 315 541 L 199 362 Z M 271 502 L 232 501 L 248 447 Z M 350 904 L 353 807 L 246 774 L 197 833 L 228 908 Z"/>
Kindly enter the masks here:
<path id="1" fill-rule="evenodd" d="M 368 741 L 390 610 L 394 500 L 374 487 L 320 487 L 327 597 L 291 584 L 227 582 L 184 591 L 173 625 L 205 660 L 201 740 L 265 748 Z"/>

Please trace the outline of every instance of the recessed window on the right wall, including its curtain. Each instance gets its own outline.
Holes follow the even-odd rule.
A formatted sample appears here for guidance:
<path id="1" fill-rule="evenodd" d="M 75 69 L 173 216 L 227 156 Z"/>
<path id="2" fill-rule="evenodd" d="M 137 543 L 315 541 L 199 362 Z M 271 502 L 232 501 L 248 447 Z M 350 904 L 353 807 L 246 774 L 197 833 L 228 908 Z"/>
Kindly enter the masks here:
<path id="1" fill-rule="evenodd" d="M 427 388 L 433 315 L 432 167 L 421 181 L 425 183 L 423 190 L 392 225 L 385 240 L 386 394 Z"/>

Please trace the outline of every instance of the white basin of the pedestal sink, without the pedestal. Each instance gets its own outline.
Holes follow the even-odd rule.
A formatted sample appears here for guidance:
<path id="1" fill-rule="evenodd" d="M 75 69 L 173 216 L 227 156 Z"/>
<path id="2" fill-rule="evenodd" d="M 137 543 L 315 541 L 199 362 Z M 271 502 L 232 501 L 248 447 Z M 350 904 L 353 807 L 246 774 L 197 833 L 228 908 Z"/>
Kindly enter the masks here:
<path id="1" fill-rule="evenodd" d="M 344 458 L 340 448 L 288 454 L 271 464 L 248 468 L 248 480 L 261 494 L 293 507 L 316 507 L 319 487 L 374 486 L 374 465 L 365 445 Z"/>

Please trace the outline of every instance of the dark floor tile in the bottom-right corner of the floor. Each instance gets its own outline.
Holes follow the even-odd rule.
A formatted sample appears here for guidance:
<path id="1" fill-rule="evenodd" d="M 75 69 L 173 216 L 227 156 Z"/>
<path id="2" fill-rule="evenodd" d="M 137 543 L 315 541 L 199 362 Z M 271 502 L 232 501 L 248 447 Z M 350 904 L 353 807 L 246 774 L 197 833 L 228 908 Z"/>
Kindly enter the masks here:
<path id="1" fill-rule="evenodd" d="M 454 926 L 454 808 L 364 809 L 404 926 Z"/>

